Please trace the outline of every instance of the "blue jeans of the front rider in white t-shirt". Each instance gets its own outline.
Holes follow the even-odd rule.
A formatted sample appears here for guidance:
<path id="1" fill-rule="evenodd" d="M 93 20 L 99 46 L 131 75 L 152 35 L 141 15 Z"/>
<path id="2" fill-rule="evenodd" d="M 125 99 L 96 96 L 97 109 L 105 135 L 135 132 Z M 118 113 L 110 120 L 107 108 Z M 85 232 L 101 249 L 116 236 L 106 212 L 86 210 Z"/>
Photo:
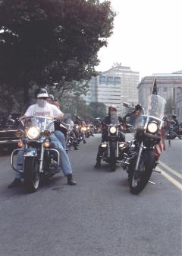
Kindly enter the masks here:
<path id="1" fill-rule="evenodd" d="M 67 156 L 67 152 L 64 150 L 61 142 L 56 138 L 55 134 L 52 133 L 50 136 L 52 148 L 57 149 L 60 155 L 59 167 L 62 169 L 64 176 L 67 174 L 72 174 L 71 163 Z M 24 165 L 24 150 L 21 150 L 17 153 L 17 169 L 22 170 Z M 22 178 L 22 174 L 16 171 L 15 178 Z"/>

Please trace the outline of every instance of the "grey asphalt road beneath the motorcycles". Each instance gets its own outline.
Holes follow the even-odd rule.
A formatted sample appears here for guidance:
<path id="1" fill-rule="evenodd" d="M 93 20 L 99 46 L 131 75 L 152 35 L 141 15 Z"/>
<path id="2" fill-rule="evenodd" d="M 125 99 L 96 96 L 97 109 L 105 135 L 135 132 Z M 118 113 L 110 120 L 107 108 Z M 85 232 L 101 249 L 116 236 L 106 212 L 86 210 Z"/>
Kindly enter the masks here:
<path id="1" fill-rule="evenodd" d="M 7 188 L 14 173 L 10 156 L 0 158 L 1 256 L 181 256 L 179 187 L 153 173 L 156 184 L 133 196 L 120 167 L 93 168 L 98 144 L 97 135 L 70 153 L 77 186 L 58 174 L 34 194 Z M 182 141 L 166 148 L 162 163 L 181 173 Z"/>

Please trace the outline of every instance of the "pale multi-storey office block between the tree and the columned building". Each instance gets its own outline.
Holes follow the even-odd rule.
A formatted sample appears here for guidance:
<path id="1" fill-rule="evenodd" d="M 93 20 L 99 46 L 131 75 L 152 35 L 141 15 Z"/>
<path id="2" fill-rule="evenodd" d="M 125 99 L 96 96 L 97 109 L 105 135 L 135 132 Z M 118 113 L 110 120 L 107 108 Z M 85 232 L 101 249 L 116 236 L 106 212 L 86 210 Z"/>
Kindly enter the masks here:
<path id="1" fill-rule="evenodd" d="M 108 107 L 115 104 L 121 115 L 125 113 L 123 103 L 137 104 L 139 72 L 131 71 L 130 67 L 114 66 L 108 71 L 100 72 L 96 78 L 89 82 L 89 91 L 85 100 L 102 102 Z"/>

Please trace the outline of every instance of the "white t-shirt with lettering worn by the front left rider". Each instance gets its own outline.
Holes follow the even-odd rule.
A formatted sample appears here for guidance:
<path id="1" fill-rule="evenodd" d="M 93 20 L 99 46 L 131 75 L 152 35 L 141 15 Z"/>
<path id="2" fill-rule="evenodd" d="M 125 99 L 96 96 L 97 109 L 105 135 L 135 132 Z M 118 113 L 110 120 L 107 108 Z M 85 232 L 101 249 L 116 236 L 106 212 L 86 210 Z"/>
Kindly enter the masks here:
<path id="1" fill-rule="evenodd" d="M 61 110 L 58 109 L 58 107 L 46 102 L 44 107 L 39 107 L 38 104 L 31 105 L 30 107 L 28 107 L 24 115 L 26 117 L 55 117 L 61 114 L 63 113 L 61 112 Z M 49 130 L 55 130 L 54 123 L 52 124 Z"/>

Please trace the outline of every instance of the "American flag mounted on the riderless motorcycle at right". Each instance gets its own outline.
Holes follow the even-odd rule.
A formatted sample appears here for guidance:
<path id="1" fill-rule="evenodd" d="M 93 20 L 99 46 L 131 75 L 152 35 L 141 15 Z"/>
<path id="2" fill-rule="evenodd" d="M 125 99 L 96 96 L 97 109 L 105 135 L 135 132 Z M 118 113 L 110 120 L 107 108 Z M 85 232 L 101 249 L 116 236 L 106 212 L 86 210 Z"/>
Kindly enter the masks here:
<path id="1" fill-rule="evenodd" d="M 152 94 L 157 95 L 157 80 L 156 80 L 156 78 L 154 79 Z M 162 108 L 158 104 L 157 97 L 151 98 L 150 106 L 151 106 L 151 108 L 149 109 L 149 112 L 151 112 L 151 113 L 149 113 L 149 114 L 151 116 L 152 115 L 156 116 L 156 113 L 159 114 L 160 111 L 162 110 Z M 157 156 L 157 158 L 159 158 L 160 155 L 162 154 L 162 152 L 165 151 L 165 131 L 164 130 L 161 130 L 160 136 L 161 136 L 161 140 L 157 145 L 155 145 L 155 148 L 154 148 L 154 152 L 155 152 L 155 155 Z"/>

